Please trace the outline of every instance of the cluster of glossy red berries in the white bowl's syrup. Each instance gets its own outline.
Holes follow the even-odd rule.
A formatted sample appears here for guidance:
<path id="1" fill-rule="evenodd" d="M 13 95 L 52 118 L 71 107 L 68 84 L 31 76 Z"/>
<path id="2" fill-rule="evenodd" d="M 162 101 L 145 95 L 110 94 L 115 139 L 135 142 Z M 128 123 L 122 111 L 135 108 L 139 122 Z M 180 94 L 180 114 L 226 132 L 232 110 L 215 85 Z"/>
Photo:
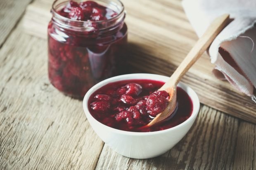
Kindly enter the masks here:
<path id="1" fill-rule="evenodd" d="M 109 114 L 117 122 L 124 121 L 129 125 L 147 124 L 150 116 L 155 117 L 167 106 L 169 95 L 166 91 L 155 91 L 151 94 L 150 90 L 157 87 L 151 83 L 143 85 L 128 83 L 107 94 L 96 94 L 90 106 L 92 110 L 99 114 Z M 149 94 L 149 96 L 142 96 Z M 114 114 L 113 114 L 114 113 Z"/>

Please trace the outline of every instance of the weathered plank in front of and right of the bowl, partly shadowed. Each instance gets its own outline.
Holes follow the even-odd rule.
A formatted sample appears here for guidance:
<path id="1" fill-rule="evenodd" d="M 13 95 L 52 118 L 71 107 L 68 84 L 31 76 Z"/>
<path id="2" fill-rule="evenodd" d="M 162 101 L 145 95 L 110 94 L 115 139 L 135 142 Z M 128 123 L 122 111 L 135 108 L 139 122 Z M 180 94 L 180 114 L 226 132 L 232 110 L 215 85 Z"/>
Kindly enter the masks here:
<path id="1" fill-rule="evenodd" d="M 238 119 L 202 106 L 192 129 L 166 154 L 153 159 L 129 159 L 104 146 L 96 169 L 232 169 L 238 126 Z M 243 161 L 252 167 L 251 159 Z"/>

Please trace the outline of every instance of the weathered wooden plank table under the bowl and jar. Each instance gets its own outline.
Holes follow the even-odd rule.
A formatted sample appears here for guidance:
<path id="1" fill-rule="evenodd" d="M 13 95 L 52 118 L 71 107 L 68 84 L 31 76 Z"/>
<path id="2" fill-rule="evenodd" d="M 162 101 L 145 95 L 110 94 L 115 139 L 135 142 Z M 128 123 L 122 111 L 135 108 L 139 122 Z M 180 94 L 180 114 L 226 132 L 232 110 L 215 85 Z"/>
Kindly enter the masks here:
<path id="1" fill-rule="evenodd" d="M 161 1 L 180 8 L 179 0 Z M 47 41 L 21 26 L 30 2 L 0 1 L 1 170 L 256 169 L 256 125 L 203 104 L 192 129 L 166 154 L 139 160 L 113 152 L 90 127 L 82 102 L 49 83 Z"/>

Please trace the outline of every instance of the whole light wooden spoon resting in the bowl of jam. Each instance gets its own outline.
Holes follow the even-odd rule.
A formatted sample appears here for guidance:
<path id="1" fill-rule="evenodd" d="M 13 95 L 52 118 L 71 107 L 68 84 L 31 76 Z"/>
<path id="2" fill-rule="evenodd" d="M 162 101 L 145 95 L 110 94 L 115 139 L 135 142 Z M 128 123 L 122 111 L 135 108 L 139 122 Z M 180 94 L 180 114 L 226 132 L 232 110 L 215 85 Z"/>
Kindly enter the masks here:
<path id="1" fill-rule="evenodd" d="M 204 35 L 197 41 L 194 47 L 187 54 L 185 59 L 181 62 L 179 67 L 175 70 L 170 79 L 159 89 L 165 90 L 170 95 L 170 99 L 168 101 L 168 105 L 166 109 L 156 115 L 156 117 L 149 122 L 146 126 L 152 126 L 159 122 L 162 122 L 164 119 L 171 116 L 173 111 L 176 108 L 176 86 L 180 79 L 184 76 L 184 74 L 190 69 L 190 67 L 199 59 L 199 57 L 206 51 L 206 49 L 211 45 L 212 41 L 216 38 L 216 36 L 220 33 L 223 28 L 227 25 L 229 21 L 229 14 L 223 14 L 216 18 L 209 28 L 206 30 Z M 179 106 L 182 107 L 182 106 Z"/>

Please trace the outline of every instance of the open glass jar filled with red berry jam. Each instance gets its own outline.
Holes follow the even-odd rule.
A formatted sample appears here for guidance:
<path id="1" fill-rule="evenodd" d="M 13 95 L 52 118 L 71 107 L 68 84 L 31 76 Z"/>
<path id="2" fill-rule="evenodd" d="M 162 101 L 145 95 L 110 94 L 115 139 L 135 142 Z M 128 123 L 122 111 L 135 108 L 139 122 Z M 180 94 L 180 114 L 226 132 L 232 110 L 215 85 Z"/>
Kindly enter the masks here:
<path id="1" fill-rule="evenodd" d="M 103 21 L 76 21 L 58 14 L 69 1 L 56 0 L 48 25 L 50 82 L 59 91 L 78 99 L 96 83 L 126 70 L 123 4 L 119 0 L 94 1 L 117 15 Z"/>

